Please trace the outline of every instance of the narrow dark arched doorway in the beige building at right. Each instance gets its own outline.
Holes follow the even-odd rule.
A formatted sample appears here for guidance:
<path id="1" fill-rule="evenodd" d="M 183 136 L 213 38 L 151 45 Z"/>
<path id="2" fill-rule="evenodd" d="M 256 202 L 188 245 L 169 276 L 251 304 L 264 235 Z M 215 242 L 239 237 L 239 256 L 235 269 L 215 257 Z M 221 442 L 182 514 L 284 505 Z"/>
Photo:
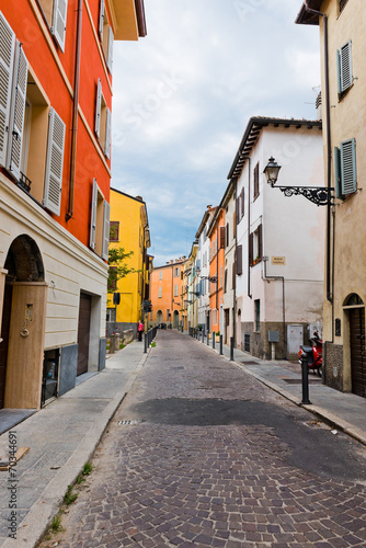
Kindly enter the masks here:
<path id="1" fill-rule="evenodd" d="M 346 298 L 344 309 L 350 323 L 352 392 L 366 398 L 365 305 L 362 298 L 353 293 Z"/>

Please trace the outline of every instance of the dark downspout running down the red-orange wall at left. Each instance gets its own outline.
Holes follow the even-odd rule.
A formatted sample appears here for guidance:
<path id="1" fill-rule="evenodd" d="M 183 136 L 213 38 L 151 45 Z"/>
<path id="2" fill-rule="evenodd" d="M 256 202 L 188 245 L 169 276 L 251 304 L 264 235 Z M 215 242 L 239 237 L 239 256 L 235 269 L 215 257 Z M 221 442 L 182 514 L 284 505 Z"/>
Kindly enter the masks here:
<path id="1" fill-rule="evenodd" d="M 81 57 L 81 31 L 82 31 L 82 2 L 78 1 L 78 20 L 77 20 L 77 49 L 75 58 L 75 78 L 73 78 L 73 100 L 72 100 L 72 127 L 71 127 L 71 151 L 70 151 L 70 185 L 69 201 L 66 213 L 66 221 L 70 220 L 73 215 L 73 198 L 75 198 L 75 178 L 77 168 L 77 136 L 78 136 L 78 109 L 79 109 L 79 89 L 80 89 L 80 57 Z"/>

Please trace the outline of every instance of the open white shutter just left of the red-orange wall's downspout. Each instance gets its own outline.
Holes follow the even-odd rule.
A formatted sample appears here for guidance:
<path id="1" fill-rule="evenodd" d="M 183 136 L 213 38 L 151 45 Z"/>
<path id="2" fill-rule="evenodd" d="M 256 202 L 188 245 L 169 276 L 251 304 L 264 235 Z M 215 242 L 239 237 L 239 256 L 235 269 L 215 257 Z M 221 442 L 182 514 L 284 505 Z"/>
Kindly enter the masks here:
<path id="1" fill-rule="evenodd" d="M 65 124 L 57 112 L 50 109 L 43 205 L 56 215 L 60 214 L 61 208 L 64 149 Z"/>

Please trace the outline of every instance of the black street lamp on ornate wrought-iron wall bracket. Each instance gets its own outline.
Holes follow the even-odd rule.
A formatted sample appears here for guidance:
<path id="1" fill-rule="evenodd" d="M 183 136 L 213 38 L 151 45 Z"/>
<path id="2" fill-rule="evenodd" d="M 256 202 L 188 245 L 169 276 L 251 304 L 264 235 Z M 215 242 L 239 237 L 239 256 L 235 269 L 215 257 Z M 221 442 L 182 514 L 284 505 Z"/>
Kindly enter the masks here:
<path id="1" fill-rule="evenodd" d="M 270 158 L 268 163 L 264 168 L 263 173 L 267 180 L 267 183 L 274 187 L 279 189 L 285 196 L 290 197 L 294 195 L 305 196 L 307 199 L 317 205 L 333 205 L 332 203 L 332 191 L 333 187 L 328 186 L 275 186 L 281 165 L 275 161 L 273 157 Z"/>

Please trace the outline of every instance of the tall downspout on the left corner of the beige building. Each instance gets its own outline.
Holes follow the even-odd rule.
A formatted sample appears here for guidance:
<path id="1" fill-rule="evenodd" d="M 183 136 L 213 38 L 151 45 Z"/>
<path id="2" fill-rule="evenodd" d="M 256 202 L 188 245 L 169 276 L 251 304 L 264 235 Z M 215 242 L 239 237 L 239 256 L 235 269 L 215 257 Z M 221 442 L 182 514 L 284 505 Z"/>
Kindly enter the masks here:
<path id="1" fill-rule="evenodd" d="M 324 77 L 325 77 L 325 127 L 327 127 L 327 186 L 328 192 L 331 189 L 331 165 L 332 165 L 332 148 L 331 148 L 331 116 L 330 116 L 330 91 L 329 91 L 329 50 L 328 50 L 328 16 L 321 11 L 313 10 L 309 8 L 309 0 L 305 0 L 305 9 L 308 13 L 313 13 L 323 18 L 323 30 L 324 30 Z M 327 204 L 327 300 L 332 305 L 332 317 L 334 315 L 334 304 L 332 295 L 332 282 L 331 271 L 334 270 L 334 253 L 333 253 L 333 265 L 331 265 L 331 204 Z M 332 322 L 332 342 L 333 336 L 333 322 Z"/>

